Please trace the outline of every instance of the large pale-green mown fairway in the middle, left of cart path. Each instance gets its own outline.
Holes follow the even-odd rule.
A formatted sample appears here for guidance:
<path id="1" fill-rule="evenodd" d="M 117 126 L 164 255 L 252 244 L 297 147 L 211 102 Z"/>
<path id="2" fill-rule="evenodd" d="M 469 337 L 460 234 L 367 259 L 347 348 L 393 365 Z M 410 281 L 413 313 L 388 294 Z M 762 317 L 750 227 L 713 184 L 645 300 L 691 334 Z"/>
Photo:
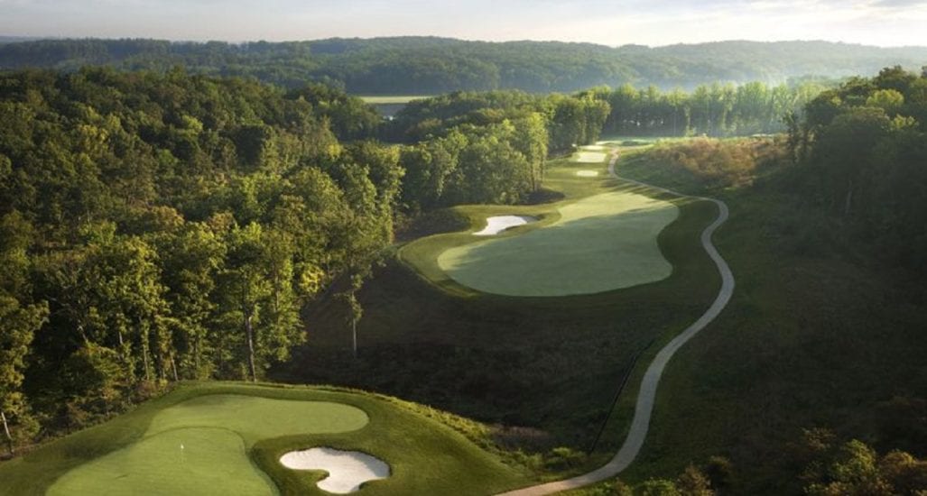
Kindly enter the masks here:
<path id="1" fill-rule="evenodd" d="M 656 238 L 679 216 L 662 200 L 606 192 L 561 207 L 550 226 L 475 242 L 438 256 L 451 279 L 508 296 L 565 296 L 666 279 L 672 266 Z"/>

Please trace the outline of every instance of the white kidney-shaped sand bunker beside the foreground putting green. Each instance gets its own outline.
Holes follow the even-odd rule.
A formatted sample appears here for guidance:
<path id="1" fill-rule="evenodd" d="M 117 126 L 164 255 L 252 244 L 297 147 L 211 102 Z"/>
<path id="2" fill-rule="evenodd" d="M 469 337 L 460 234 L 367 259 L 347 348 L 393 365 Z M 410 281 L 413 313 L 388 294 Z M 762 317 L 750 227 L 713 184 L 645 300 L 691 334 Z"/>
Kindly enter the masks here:
<path id="1" fill-rule="evenodd" d="M 389 477 L 389 465 L 367 453 L 342 452 L 335 448 L 312 448 L 286 453 L 280 463 L 294 470 L 324 470 L 328 477 L 316 485 L 319 489 L 336 494 L 361 490 L 370 480 Z"/>

